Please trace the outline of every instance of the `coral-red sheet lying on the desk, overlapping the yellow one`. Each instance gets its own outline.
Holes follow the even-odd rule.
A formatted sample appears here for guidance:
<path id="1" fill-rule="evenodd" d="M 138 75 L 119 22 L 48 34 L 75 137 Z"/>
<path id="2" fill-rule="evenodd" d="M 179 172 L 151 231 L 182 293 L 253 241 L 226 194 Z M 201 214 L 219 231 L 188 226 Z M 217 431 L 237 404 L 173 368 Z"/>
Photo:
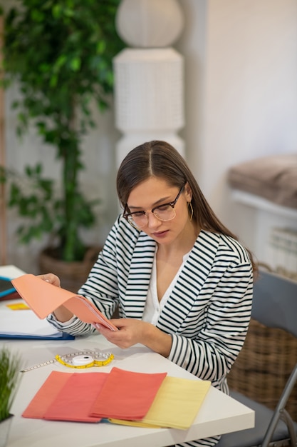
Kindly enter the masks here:
<path id="1" fill-rule="evenodd" d="M 90 414 L 101 418 L 141 420 L 166 376 L 167 373 L 134 373 L 113 368 Z"/>

